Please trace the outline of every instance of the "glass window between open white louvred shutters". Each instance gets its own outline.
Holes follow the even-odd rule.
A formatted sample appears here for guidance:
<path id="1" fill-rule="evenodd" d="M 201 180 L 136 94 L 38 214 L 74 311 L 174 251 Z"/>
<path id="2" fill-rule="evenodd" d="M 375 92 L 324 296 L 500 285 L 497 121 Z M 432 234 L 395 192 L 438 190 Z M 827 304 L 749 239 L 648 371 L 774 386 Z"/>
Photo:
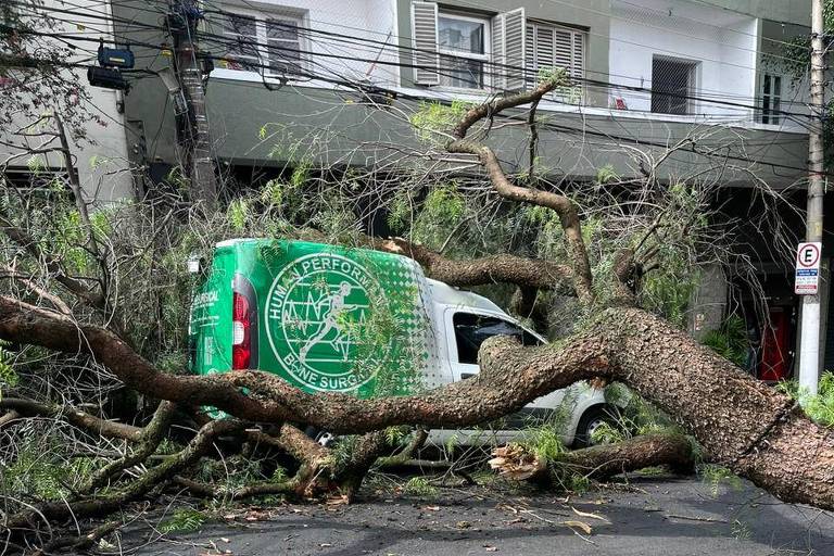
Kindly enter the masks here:
<path id="1" fill-rule="evenodd" d="M 462 89 L 484 87 L 486 20 L 454 14 L 438 17 L 440 85 Z"/>

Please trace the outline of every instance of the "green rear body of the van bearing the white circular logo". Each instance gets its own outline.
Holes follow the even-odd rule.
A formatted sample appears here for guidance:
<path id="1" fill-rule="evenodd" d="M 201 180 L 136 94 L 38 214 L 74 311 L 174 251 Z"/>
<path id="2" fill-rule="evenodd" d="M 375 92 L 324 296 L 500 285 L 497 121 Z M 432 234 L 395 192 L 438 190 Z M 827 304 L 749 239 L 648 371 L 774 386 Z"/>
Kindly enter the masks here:
<path id="1" fill-rule="evenodd" d="M 409 258 L 302 241 L 236 240 L 217 248 L 203 289 L 217 291 L 225 279 L 231 298 L 236 275 L 256 299 L 258 368 L 295 387 L 361 397 L 405 394 L 438 368 L 428 285 Z M 231 314 L 230 301 L 214 306 Z M 215 330 L 226 334 L 218 341 L 230 353 L 231 328 Z M 198 371 L 205 368 L 198 365 Z"/>

